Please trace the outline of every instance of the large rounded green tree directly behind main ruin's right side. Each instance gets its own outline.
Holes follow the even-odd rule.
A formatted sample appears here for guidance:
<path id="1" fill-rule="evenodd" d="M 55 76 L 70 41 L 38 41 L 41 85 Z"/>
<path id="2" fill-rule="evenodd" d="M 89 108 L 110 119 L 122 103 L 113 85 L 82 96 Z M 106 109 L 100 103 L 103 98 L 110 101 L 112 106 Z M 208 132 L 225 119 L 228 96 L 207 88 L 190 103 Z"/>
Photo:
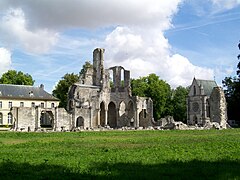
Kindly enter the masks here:
<path id="1" fill-rule="evenodd" d="M 153 100 L 154 119 L 157 120 L 169 115 L 168 102 L 171 100 L 171 88 L 156 74 L 132 79 L 131 87 L 133 96 L 150 97 Z"/>

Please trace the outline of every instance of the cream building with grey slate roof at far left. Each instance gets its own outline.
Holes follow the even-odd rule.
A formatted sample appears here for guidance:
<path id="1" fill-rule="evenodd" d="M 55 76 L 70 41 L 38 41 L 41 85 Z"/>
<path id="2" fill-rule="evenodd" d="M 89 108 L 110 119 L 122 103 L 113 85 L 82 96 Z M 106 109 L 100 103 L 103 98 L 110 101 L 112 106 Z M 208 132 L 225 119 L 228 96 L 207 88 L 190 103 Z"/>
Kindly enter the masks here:
<path id="1" fill-rule="evenodd" d="M 33 87 L 25 85 L 0 84 L 0 129 L 6 128 L 31 128 L 41 125 L 48 126 L 46 118 L 35 122 L 32 111 L 36 109 L 54 109 L 59 105 L 59 100 L 44 90 L 44 86 Z M 31 113 L 28 110 L 31 109 Z M 22 111 L 20 111 L 22 110 Z M 42 111 L 43 112 L 43 111 Z M 41 118 L 39 111 L 39 118 Z M 21 114 L 26 117 L 20 118 Z M 35 125 L 36 124 L 36 125 Z"/>

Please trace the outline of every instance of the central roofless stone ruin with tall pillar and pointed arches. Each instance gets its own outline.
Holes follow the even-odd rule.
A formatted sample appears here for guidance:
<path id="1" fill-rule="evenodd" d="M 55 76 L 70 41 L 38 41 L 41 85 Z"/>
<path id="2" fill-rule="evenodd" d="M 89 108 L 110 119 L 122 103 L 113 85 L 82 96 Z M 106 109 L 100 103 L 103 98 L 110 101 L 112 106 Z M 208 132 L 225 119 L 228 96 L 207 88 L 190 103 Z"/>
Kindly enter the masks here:
<path id="1" fill-rule="evenodd" d="M 76 128 L 152 126 L 152 100 L 132 96 L 130 71 L 121 66 L 104 68 L 104 51 L 94 50 L 93 68 L 69 90 L 72 124 Z"/>

